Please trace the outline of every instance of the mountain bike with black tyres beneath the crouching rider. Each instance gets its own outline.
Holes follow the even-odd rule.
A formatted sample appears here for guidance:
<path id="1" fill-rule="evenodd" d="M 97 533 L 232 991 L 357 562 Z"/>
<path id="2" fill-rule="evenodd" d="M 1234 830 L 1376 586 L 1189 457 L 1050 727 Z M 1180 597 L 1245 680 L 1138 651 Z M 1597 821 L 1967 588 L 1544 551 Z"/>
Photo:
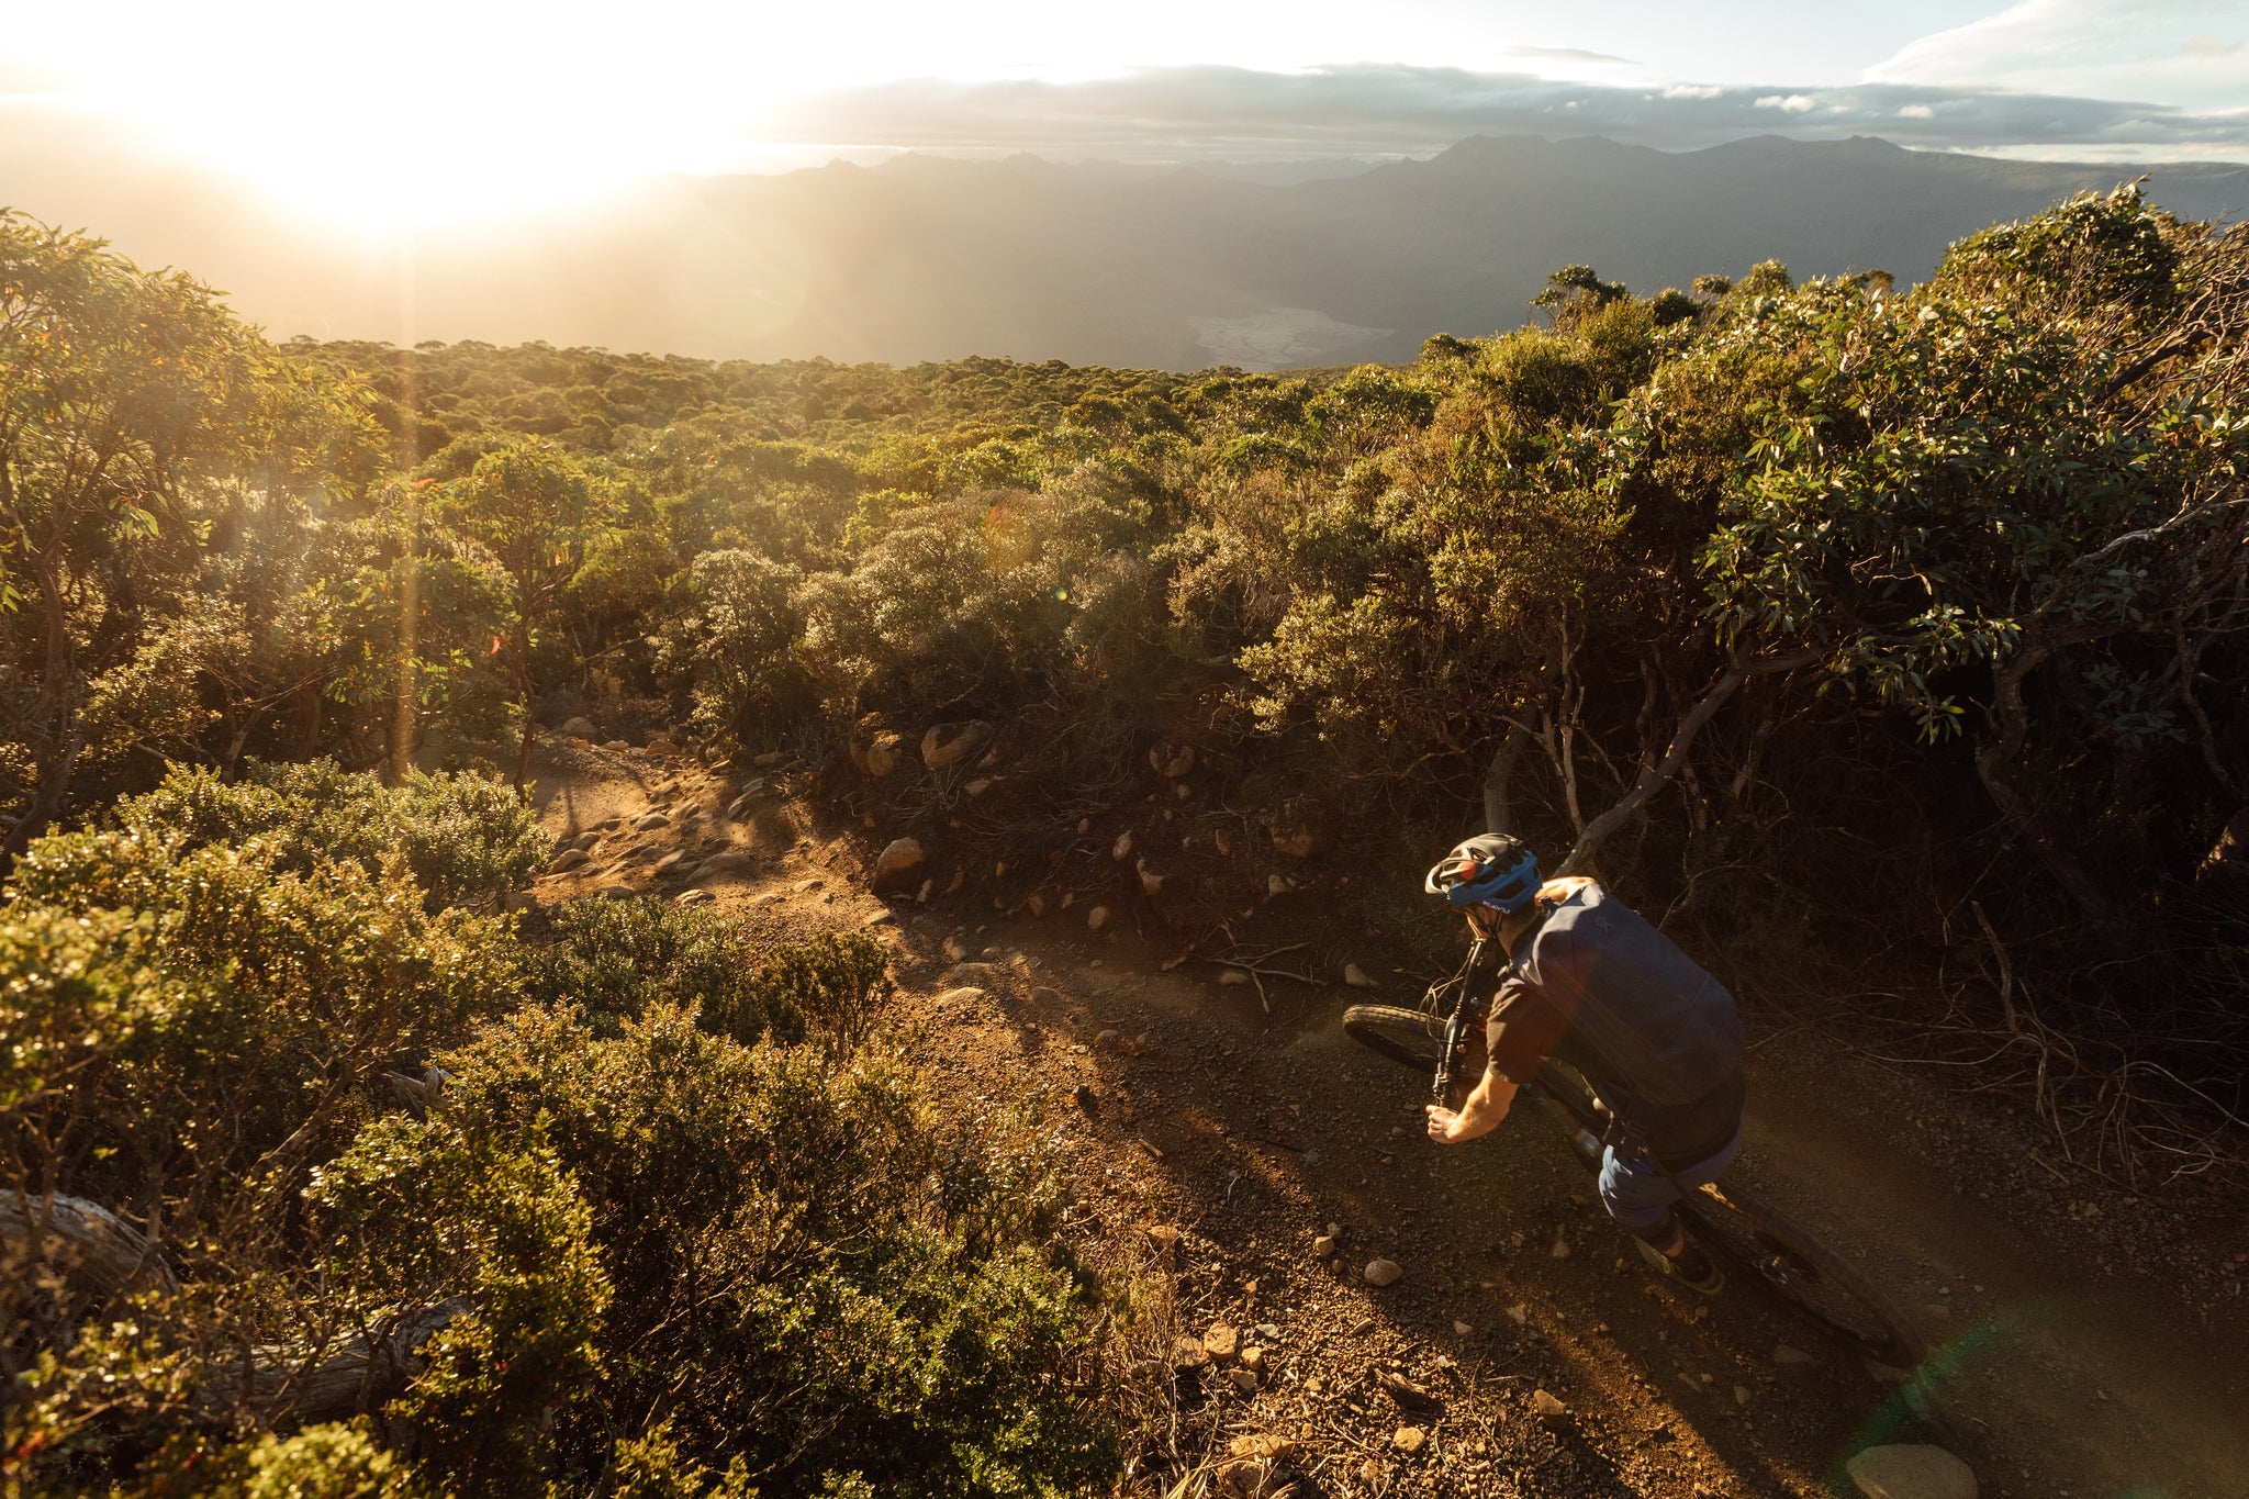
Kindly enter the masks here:
<path id="1" fill-rule="evenodd" d="M 1421 1072 L 1430 1079 L 1430 1099 L 1457 1108 L 1464 1092 L 1460 1079 L 1473 1076 L 1464 1063 L 1471 1052 L 1482 1052 L 1482 996 L 1471 982 L 1482 953 L 1484 942 L 1473 942 L 1469 962 L 1453 978 L 1430 984 L 1421 1009 L 1352 1005 L 1343 1011 L 1343 1032 L 1374 1054 Z M 1538 1063 L 1525 1092 L 1561 1126 L 1579 1164 L 1599 1175 L 1617 1124 L 1610 1099 L 1583 1072 L 1552 1056 Z M 1738 1180 L 1689 1189 L 1680 1211 L 1711 1254 L 1752 1272 L 1855 1353 L 1894 1366 L 1921 1360 L 1923 1344 L 1912 1321 L 1878 1285 Z"/>

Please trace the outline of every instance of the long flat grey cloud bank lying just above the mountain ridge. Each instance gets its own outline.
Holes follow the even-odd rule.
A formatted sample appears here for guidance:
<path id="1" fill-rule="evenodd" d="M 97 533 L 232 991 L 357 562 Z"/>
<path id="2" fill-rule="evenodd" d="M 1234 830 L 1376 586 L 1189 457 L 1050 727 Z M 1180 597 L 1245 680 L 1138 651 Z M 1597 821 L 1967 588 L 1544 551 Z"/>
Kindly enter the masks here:
<path id="1" fill-rule="evenodd" d="M 1160 67 L 1086 83 L 900 81 L 803 99 L 760 130 L 832 148 L 1032 151 L 1127 162 L 1426 155 L 1469 135 L 1714 146 L 1786 121 L 1804 139 L 2085 160 L 2249 160 L 2249 112 L 1927 83 L 1635 88 L 1356 63 Z"/>

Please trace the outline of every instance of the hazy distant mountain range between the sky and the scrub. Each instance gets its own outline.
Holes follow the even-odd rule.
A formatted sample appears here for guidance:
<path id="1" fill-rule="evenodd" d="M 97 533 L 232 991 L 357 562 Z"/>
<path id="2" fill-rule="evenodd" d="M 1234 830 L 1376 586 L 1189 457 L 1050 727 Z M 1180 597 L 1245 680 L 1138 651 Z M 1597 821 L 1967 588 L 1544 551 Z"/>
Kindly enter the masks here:
<path id="1" fill-rule="evenodd" d="M 1426 162 L 1241 169 L 897 157 L 661 178 L 477 231 L 351 240 L 220 178 L 0 164 L 0 202 L 232 292 L 274 337 L 596 344 L 711 357 L 972 353 L 1280 369 L 1408 360 L 1511 328 L 1550 270 L 1635 290 L 1738 274 L 1925 276 L 1954 238 L 2152 171 L 2188 218 L 2249 209 L 2249 166 L 2013 162 L 1754 137 L 1662 153 L 1466 139 Z"/>

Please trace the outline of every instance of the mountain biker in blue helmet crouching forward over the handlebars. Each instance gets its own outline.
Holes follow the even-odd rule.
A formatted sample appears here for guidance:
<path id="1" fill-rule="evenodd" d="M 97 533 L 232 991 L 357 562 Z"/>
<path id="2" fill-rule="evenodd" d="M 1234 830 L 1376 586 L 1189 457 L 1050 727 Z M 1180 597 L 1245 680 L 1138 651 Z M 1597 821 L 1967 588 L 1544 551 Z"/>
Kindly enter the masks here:
<path id="1" fill-rule="evenodd" d="M 1518 838 L 1484 834 L 1439 858 L 1424 890 L 1498 937 L 1507 962 L 1484 1018 L 1489 1065 L 1460 1110 L 1428 1106 L 1428 1137 L 1460 1144 L 1507 1117 L 1547 1054 L 1615 1106 L 1601 1205 L 1667 1279 L 1716 1294 L 1718 1268 L 1673 1202 L 1741 1153 L 1743 1029 L 1734 996 L 1590 879 L 1538 879 Z"/>

